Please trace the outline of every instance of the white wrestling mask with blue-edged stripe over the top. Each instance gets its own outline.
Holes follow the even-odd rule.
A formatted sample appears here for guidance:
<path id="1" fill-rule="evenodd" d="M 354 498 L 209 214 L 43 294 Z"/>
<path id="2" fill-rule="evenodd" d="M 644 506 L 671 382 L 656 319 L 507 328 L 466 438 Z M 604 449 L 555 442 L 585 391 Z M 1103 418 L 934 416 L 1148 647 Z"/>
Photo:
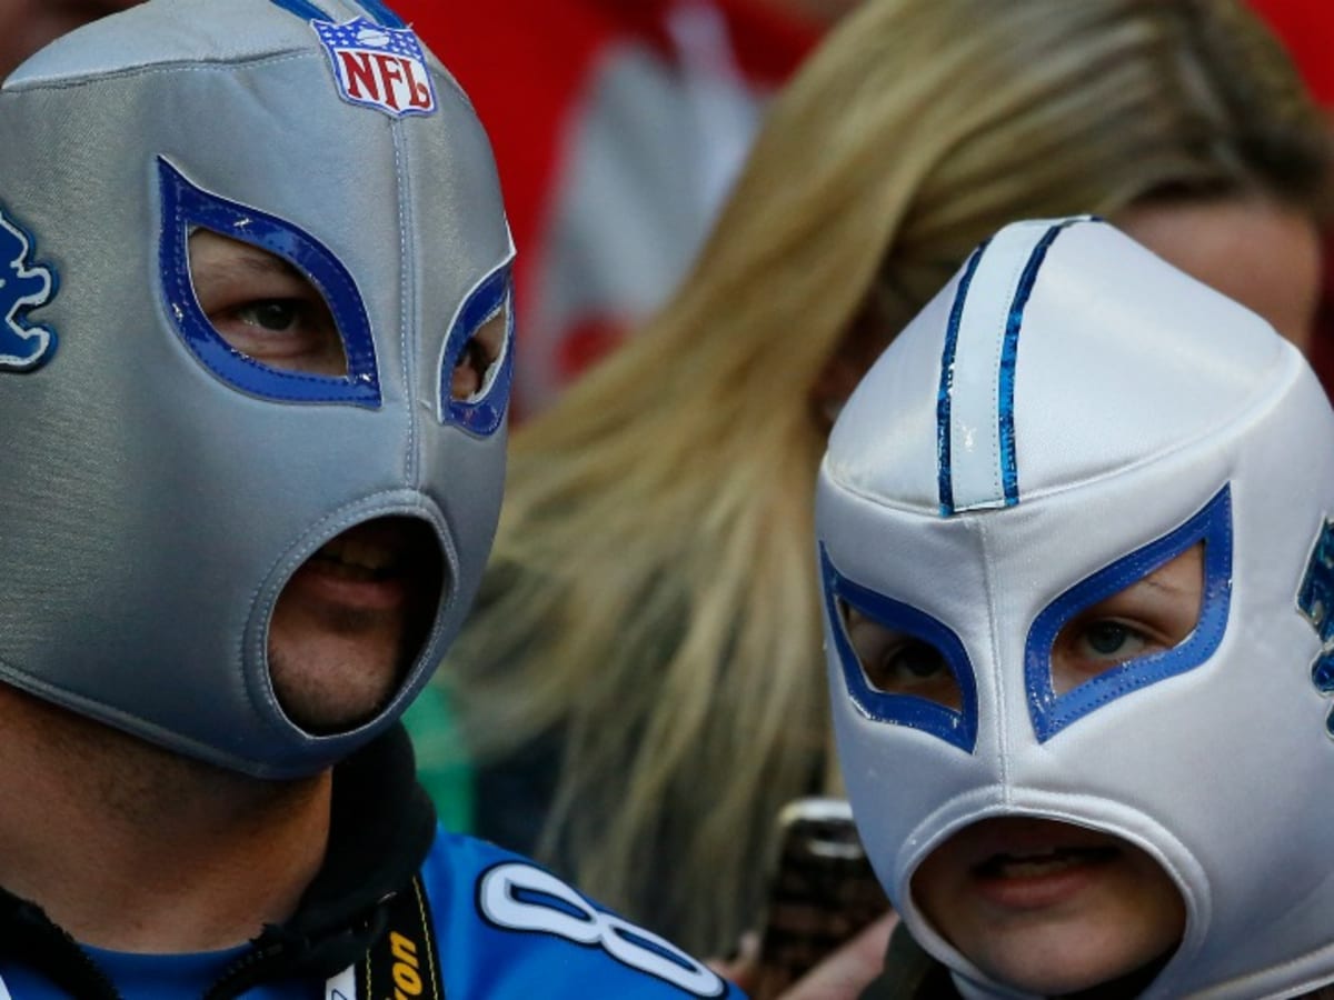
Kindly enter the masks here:
<path id="1" fill-rule="evenodd" d="M 1098 220 L 1002 229 L 871 368 L 818 487 L 834 721 L 876 872 L 966 996 L 1023 993 L 911 881 L 995 817 L 1162 868 L 1185 931 L 1146 997 L 1330 979 L 1331 511 L 1334 416 L 1301 355 Z M 1170 640 L 1054 669 L 1070 623 L 1193 551 Z M 866 623 L 896 645 L 858 644 Z"/>

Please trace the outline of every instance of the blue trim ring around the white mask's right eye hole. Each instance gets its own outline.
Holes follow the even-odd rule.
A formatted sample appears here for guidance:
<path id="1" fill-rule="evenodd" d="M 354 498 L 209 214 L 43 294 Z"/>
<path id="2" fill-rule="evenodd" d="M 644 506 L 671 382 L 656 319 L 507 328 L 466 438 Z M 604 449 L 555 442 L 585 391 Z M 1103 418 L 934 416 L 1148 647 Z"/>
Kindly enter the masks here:
<path id="1" fill-rule="evenodd" d="M 1171 649 L 1131 657 L 1057 695 L 1051 680 L 1051 652 L 1066 623 L 1199 543 L 1205 545 L 1205 580 L 1199 619 L 1191 633 Z M 1227 631 L 1231 573 L 1233 507 L 1231 489 L 1225 485 L 1179 528 L 1099 569 L 1049 604 L 1029 629 L 1023 657 L 1025 689 L 1038 741 L 1046 743 L 1107 703 L 1193 671 L 1213 656 Z"/>

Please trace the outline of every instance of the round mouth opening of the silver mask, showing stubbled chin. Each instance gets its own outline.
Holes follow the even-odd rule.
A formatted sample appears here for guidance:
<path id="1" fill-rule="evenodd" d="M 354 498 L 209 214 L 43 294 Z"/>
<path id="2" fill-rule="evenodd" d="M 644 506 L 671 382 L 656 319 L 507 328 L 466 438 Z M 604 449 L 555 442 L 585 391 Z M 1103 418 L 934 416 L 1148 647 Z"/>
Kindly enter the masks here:
<path id="1" fill-rule="evenodd" d="M 328 736 L 378 716 L 422 656 L 444 588 L 440 541 L 423 520 L 378 517 L 321 545 L 269 620 L 269 676 L 288 719 Z"/>

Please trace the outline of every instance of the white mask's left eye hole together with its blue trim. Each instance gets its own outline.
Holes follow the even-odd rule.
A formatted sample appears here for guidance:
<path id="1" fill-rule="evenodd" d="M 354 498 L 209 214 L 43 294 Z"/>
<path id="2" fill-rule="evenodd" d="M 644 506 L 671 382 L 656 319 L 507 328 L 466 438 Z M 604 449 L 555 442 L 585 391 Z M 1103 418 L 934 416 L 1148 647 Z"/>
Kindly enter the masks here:
<path id="1" fill-rule="evenodd" d="M 972 752 L 976 684 L 959 637 L 942 621 L 854 583 L 820 545 L 830 632 L 847 693 L 872 721 L 939 736 Z"/>

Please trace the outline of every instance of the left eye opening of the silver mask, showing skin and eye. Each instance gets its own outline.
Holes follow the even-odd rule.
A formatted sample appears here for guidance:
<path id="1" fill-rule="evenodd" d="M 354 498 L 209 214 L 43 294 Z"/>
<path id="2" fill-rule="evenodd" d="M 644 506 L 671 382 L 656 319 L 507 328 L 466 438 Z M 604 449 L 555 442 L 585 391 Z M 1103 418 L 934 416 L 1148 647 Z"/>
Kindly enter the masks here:
<path id="1" fill-rule="evenodd" d="M 196 227 L 188 240 L 195 300 L 233 351 L 280 371 L 347 375 L 347 353 L 319 289 L 268 251 Z"/>

